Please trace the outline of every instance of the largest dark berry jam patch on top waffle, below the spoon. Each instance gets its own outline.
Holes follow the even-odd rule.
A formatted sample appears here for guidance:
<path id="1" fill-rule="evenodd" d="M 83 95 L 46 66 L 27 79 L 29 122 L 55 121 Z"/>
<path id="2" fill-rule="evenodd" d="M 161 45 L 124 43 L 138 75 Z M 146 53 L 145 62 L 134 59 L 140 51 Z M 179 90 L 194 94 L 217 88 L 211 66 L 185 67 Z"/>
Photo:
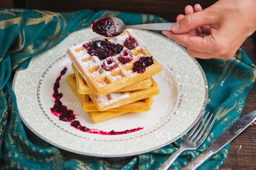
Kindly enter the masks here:
<path id="1" fill-rule="evenodd" d="M 124 48 L 124 46 L 121 44 L 109 42 L 107 39 L 105 39 L 105 41 L 91 41 L 83 44 L 83 47 L 87 49 L 88 54 L 97 56 L 99 60 L 104 60 L 107 57 L 115 56 Z"/>

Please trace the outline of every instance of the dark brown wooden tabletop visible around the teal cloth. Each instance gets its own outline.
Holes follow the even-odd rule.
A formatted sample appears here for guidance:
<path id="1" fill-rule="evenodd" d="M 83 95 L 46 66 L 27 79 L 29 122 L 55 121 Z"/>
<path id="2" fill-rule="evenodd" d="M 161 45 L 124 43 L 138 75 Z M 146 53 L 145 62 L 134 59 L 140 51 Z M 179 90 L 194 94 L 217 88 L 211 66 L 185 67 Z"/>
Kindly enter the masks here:
<path id="1" fill-rule="evenodd" d="M 114 11 L 128 11 L 136 13 L 150 13 L 170 22 L 175 22 L 178 14 L 184 13 L 184 7 L 188 4 L 202 4 L 203 9 L 209 7 L 217 0 L 13 0 L 10 3 L 4 0 L 1 8 L 22 7 L 28 9 L 40 9 L 49 11 L 76 11 L 90 9 L 99 11 L 102 9 Z M 256 64 L 256 33 L 247 38 L 242 48 Z M 256 84 L 250 91 L 243 115 L 256 110 Z M 236 139 L 231 142 L 227 160 L 220 170 L 256 170 L 256 123 L 249 126 Z"/>

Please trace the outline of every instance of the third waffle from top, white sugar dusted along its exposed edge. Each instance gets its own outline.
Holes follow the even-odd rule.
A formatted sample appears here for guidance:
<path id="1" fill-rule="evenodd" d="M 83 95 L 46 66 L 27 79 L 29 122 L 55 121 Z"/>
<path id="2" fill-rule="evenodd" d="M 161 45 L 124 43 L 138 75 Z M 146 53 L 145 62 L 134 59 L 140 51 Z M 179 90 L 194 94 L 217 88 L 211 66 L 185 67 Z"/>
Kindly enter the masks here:
<path id="1" fill-rule="evenodd" d="M 98 110 L 104 111 L 111 108 L 116 108 L 119 106 L 127 105 L 132 102 L 136 102 L 145 97 L 150 97 L 160 93 L 159 86 L 155 80 L 151 77 L 152 85 L 150 88 L 137 90 L 137 91 L 128 91 L 128 92 L 115 92 L 109 93 L 107 95 L 98 96 L 95 94 L 89 94 L 88 96 L 95 104 Z M 83 101 L 83 98 L 82 98 Z"/>

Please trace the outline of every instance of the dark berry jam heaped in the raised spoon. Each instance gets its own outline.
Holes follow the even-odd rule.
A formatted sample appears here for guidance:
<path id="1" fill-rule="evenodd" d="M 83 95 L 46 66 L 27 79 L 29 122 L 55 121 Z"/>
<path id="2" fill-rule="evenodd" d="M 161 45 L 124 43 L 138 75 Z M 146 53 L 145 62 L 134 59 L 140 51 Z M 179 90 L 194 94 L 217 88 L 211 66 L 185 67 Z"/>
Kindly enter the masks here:
<path id="1" fill-rule="evenodd" d="M 116 33 L 115 22 L 110 17 L 100 18 L 92 22 L 92 31 L 104 37 L 116 37 L 120 33 Z"/>

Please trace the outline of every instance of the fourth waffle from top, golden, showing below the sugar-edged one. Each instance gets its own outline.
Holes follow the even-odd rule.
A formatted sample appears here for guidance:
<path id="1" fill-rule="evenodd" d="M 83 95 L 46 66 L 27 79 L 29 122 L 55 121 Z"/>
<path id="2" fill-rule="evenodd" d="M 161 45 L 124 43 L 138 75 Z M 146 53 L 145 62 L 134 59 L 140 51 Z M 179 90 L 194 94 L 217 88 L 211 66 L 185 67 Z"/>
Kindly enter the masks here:
<path id="1" fill-rule="evenodd" d="M 81 95 L 78 93 L 76 88 L 76 77 L 75 74 L 71 74 L 67 76 L 67 83 L 69 84 L 70 88 L 76 95 L 76 97 L 81 102 L 83 110 L 87 112 L 99 112 L 95 104 L 92 102 L 88 95 Z M 151 80 L 150 80 L 151 81 Z M 123 106 L 119 106 L 117 108 L 112 108 L 106 111 L 115 111 L 115 112 L 146 112 L 150 110 L 152 103 L 154 102 L 153 97 L 148 97 L 146 99 L 141 99 L 139 101 L 126 104 Z"/>

